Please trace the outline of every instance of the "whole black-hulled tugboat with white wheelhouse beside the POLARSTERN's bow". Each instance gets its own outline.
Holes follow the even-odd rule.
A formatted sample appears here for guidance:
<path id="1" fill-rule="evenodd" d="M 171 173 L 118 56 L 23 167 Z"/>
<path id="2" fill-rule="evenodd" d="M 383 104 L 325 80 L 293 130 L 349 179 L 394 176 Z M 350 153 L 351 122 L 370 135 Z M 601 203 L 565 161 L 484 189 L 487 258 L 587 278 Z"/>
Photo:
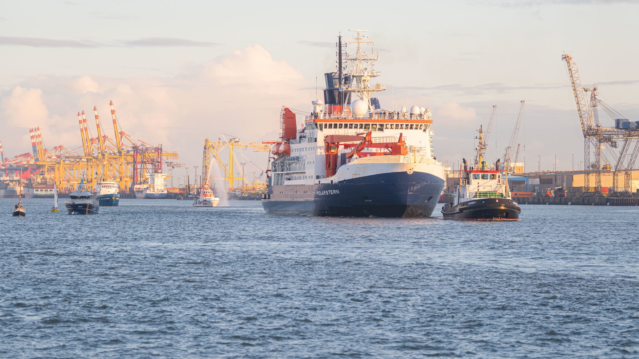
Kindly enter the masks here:
<path id="1" fill-rule="evenodd" d="M 491 167 L 484 161 L 482 129 L 479 128 L 479 147 L 475 167 L 468 169 L 466 159 L 459 168 L 459 184 L 453 203 L 442 207 L 444 219 L 461 220 L 517 220 L 520 207 L 512 200 L 508 189 L 508 175 L 500 170 L 499 160 Z"/>

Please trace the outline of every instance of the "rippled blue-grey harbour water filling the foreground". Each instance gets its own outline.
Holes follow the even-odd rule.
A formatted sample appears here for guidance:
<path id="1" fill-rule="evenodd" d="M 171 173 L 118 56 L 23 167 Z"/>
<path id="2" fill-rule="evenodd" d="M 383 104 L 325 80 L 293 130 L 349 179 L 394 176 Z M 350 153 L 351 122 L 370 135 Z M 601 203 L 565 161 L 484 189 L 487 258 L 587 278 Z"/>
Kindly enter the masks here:
<path id="1" fill-rule="evenodd" d="M 630 358 L 638 207 L 511 223 L 0 200 L 0 358 Z"/>

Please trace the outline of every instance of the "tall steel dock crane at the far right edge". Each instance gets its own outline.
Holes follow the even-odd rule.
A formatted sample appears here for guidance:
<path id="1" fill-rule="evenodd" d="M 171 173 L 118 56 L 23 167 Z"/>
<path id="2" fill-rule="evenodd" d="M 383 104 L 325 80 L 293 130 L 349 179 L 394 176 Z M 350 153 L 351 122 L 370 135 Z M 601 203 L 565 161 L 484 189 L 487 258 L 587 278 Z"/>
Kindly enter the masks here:
<path id="1" fill-rule="evenodd" d="M 617 179 L 619 170 L 623 167 L 624 158 L 626 153 L 631 147 L 631 143 L 635 143 L 635 148 L 631 152 L 631 156 L 627 161 L 627 165 L 624 168 L 624 190 L 630 190 L 630 173 L 635 166 L 636 157 L 639 155 L 639 131 L 636 122 L 625 119 L 619 112 L 613 110 L 612 106 L 604 103 L 601 99 L 597 98 L 597 87 L 585 87 L 581 84 L 581 77 L 577 64 L 574 62 L 572 55 L 562 54 L 562 60 L 566 62 L 568 76 L 573 88 L 573 95 L 575 103 L 577 105 L 577 114 L 581 124 L 581 131 L 583 133 L 583 169 L 584 169 L 584 182 L 583 193 L 586 195 L 601 195 L 601 173 L 603 171 L 603 165 L 601 163 L 601 150 L 606 147 L 606 144 L 612 148 L 617 148 L 617 140 L 624 140 L 624 145 L 620 150 L 619 157 L 615 164 L 615 171 L 613 172 L 613 187 L 615 191 L 618 191 Z M 590 101 L 587 100 L 586 94 L 590 92 Z M 608 114 L 614 121 L 614 127 L 605 127 L 599 123 L 598 108 L 601 106 L 604 112 Z M 590 154 L 592 152 L 591 147 L 595 150 L 594 162 L 590 162 Z M 595 187 L 590 187 L 590 172 L 594 170 L 595 174 Z"/>

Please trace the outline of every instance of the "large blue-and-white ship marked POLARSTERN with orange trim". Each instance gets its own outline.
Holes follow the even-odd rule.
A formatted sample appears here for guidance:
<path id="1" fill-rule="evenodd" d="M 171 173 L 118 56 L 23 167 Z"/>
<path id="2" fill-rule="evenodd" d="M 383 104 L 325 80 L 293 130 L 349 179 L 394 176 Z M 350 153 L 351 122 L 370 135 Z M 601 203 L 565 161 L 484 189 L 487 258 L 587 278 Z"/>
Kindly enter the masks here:
<path id="1" fill-rule="evenodd" d="M 431 216 L 444 186 L 443 166 L 433 155 L 431 113 L 419 106 L 401 112 L 380 106 L 373 95 L 385 86 L 371 84 L 381 75 L 374 70 L 379 53 L 365 53 L 362 46 L 373 41 L 362 30 L 351 31 L 357 35 L 344 45 L 339 36 L 339 65 L 325 74 L 325 101 L 312 101 L 302 128 L 296 114 L 282 108 L 280 139 L 266 142 L 273 148 L 261 201 L 265 212 Z"/>

